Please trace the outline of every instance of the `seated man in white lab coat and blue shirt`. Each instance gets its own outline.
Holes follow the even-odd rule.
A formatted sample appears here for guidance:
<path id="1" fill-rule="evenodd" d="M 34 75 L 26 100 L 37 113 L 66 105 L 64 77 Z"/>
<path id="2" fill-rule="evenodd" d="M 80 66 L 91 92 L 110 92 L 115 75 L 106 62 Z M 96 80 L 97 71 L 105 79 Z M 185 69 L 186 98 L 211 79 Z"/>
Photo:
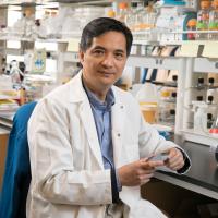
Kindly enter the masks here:
<path id="1" fill-rule="evenodd" d="M 92 21 L 80 45 L 82 71 L 37 104 L 28 122 L 28 217 L 166 217 L 141 198 L 140 185 L 156 167 L 184 172 L 190 162 L 144 122 L 131 94 L 113 86 L 131 45 L 124 24 Z M 148 159 L 162 150 L 166 161 Z"/>

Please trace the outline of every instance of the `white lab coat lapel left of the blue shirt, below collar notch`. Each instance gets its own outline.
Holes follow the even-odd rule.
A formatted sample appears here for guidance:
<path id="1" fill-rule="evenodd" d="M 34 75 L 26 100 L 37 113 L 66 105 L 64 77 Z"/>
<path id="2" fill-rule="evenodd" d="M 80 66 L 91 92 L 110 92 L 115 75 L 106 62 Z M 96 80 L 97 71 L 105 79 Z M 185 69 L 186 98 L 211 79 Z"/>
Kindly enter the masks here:
<path id="1" fill-rule="evenodd" d="M 96 130 L 95 120 L 93 117 L 93 111 L 92 111 L 88 99 L 85 99 L 82 102 L 81 108 L 80 108 L 80 116 L 81 116 L 83 126 L 87 135 L 88 144 L 93 150 L 93 154 L 96 157 L 96 160 L 99 164 L 99 167 L 104 169 L 102 156 L 100 152 L 97 130 Z"/>

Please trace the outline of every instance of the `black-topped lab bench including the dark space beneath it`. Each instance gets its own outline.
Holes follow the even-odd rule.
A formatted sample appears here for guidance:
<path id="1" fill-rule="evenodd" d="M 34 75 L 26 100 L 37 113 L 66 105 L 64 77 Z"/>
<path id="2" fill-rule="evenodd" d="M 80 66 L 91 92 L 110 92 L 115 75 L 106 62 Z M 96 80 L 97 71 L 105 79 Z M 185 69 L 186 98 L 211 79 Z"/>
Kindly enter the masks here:
<path id="1" fill-rule="evenodd" d="M 142 195 L 171 217 L 210 218 L 209 214 L 202 215 L 201 208 L 208 210 L 208 205 L 216 204 L 218 210 L 215 148 L 183 141 L 182 136 L 175 136 L 173 141 L 187 153 L 192 167 L 185 174 L 156 171 L 155 178 L 142 186 Z"/>

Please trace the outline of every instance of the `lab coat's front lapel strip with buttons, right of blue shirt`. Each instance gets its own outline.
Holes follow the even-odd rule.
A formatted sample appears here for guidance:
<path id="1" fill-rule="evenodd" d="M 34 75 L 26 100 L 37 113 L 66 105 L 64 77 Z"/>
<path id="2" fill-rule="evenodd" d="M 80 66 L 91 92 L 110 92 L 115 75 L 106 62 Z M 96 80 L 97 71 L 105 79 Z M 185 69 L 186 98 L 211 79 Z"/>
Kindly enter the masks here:
<path id="1" fill-rule="evenodd" d="M 122 165 L 122 146 L 123 146 L 123 130 L 125 119 L 125 107 L 116 98 L 116 104 L 112 107 L 112 143 L 113 143 L 113 159 L 116 167 Z"/>

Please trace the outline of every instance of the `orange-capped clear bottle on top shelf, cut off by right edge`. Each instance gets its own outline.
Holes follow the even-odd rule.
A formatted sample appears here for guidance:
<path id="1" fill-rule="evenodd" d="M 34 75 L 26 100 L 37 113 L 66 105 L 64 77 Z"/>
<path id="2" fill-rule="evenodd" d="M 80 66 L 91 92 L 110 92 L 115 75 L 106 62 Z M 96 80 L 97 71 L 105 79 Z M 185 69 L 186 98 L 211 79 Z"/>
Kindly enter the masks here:
<path id="1" fill-rule="evenodd" d="M 209 12 L 209 31 L 218 31 L 218 0 L 214 0 L 213 10 Z M 209 40 L 217 40 L 218 33 L 209 33 L 208 34 Z"/>

